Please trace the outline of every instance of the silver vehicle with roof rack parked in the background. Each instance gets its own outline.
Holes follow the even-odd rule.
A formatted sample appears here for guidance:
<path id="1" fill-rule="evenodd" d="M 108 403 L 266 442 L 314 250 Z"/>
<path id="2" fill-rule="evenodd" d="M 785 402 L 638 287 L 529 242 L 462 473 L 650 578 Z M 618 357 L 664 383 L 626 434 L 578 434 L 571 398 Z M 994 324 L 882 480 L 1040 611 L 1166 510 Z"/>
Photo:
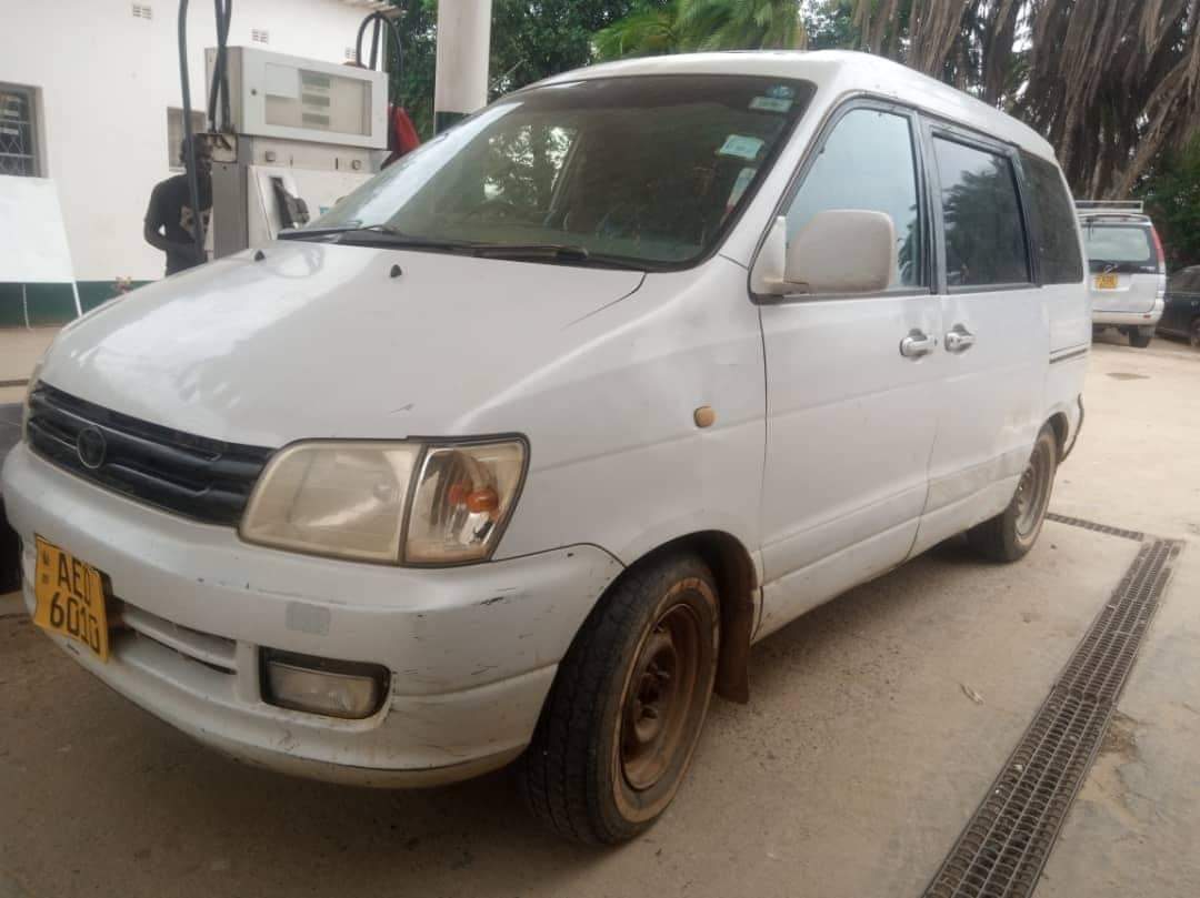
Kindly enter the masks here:
<path id="1" fill-rule="evenodd" d="M 1166 257 L 1139 200 L 1076 204 L 1091 271 L 1096 332 L 1116 327 L 1145 349 L 1163 315 Z"/>

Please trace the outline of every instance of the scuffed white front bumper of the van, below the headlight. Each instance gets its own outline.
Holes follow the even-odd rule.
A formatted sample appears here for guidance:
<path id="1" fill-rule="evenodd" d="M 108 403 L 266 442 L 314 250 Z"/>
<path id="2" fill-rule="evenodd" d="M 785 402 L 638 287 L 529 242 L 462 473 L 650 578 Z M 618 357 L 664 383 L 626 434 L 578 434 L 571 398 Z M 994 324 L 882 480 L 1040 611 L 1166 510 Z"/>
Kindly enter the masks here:
<path id="1" fill-rule="evenodd" d="M 34 535 L 100 568 L 133 629 L 108 663 L 52 637 L 145 710 L 228 754 L 368 785 L 464 779 L 528 743 L 557 663 L 620 571 L 593 546 L 446 569 L 406 569 L 248 546 L 108 493 L 18 446 L 4 495 Z M 259 646 L 385 665 L 364 721 L 263 701 Z"/>

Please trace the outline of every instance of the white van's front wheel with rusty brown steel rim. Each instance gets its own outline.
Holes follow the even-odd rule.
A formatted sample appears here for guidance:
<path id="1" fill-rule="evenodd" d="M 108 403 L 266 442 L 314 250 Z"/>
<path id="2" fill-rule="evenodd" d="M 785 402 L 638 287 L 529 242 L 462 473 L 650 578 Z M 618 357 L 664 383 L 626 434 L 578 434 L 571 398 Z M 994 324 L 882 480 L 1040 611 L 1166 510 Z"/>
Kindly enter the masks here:
<path id="1" fill-rule="evenodd" d="M 664 652 L 665 632 L 666 641 L 690 645 Z M 713 694 L 719 633 L 716 585 L 698 558 L 666 554 L 626 571 L 559 664 L 516 766 L 533 813 L 588 844 L 617 844 L 647 830 L 691 761 Z M 680 661 L 688 655 L 694 663 Z M 659 733 L 667 735 L 659 740 Z"/>

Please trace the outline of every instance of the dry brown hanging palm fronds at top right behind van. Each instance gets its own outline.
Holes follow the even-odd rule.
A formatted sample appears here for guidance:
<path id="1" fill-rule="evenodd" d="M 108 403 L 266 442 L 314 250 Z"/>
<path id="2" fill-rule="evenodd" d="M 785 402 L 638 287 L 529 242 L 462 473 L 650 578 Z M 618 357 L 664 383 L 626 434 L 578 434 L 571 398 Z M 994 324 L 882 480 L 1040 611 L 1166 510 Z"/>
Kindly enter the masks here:
<path id="1" fill-rule="evenodd" d="M 1200 0 L 850 4 L 859 48 L 1027 121 L 1079 195 L 1128 195 L 1200 133 Z"/>

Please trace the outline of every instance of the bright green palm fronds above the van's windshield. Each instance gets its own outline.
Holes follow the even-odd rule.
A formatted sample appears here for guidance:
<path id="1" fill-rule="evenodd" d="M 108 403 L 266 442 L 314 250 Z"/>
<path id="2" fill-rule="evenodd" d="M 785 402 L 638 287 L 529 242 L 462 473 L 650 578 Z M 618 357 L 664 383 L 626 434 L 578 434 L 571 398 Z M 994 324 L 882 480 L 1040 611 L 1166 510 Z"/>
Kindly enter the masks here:
<path id="1" fill-rule="evenodd" d="M 600 59 L 689 50 L 803 48 L 799 0 L 674 0 L 647 5 L 595 36 Z"/>

